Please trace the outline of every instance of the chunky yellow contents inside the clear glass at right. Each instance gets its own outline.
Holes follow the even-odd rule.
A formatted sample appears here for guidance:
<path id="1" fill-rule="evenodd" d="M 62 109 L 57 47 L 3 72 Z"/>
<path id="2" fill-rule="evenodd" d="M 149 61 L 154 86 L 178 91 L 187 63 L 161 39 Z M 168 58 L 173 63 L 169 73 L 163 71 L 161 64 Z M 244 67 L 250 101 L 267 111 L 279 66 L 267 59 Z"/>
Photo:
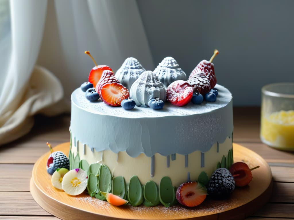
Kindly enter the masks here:
<path id="1" fill-rule="evenodd" d="M 261 138 L 270 146 L 294 150 L 294 111 L 279 111 L 261 118 Z"/>

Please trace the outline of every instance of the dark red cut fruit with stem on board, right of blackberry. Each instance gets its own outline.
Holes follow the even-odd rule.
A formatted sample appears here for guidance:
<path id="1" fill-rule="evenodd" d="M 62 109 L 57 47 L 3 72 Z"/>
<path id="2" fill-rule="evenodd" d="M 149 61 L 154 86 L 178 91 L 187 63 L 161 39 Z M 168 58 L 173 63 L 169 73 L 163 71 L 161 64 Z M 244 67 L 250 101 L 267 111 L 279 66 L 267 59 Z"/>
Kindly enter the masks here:
<path id="1" fill-rule="evenodd" d="M 230 173 L 234 177 L 235 185 L 241 186 L 241 187 L 248 185 L 252 180 L 251 170 L 254 170 L 258 167 L 259 166 L 250 169 L 246 163 L 243 163 L 243 162 L 234 163 L 230 167 Z"/>

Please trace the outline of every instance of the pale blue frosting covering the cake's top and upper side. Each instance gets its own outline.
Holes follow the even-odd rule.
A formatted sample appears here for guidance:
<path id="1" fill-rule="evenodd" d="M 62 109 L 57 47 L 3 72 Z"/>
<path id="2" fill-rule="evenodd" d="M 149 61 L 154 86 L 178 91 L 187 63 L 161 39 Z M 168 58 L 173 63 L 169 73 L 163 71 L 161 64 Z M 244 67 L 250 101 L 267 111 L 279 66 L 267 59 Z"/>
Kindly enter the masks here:
<path id="1" fill-rule="evenodd" d="M 90 102 L 78 88 L 71 95 L 70 130 L 76 140 L 98 152 L 126 151 L 131 157 L 206 152 L 233 132 L 232 95 L 223 86 L 216 89 L 216 102 L 183 107 L 166 103 L 162 110 L 135 106 L 128 111 L 101 100 Z"/>

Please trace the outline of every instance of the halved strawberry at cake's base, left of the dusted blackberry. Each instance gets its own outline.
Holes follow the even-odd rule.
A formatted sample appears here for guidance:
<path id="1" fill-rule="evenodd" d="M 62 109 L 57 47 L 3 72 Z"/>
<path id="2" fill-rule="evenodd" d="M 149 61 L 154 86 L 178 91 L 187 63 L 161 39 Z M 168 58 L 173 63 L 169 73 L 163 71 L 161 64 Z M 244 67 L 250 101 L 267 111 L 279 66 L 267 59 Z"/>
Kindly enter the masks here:
<path id="1" fill-rule="evenodd" d="M 176 192 L 179 203 L 188 207 L 200 205 L 206 198 L 207 189 L 198 182 L 185 182 L 181 184 Z"/>

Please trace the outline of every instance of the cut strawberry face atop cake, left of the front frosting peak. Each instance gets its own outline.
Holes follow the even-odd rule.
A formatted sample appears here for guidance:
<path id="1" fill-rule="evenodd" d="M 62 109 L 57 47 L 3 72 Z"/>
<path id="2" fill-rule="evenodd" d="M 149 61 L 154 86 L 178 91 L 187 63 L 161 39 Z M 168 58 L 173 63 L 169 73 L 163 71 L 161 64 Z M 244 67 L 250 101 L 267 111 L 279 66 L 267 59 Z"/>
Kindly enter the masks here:
<path id="1" fill-rule="evenodd" d="M 108 82 L 101 88 L 101 99 L 110 106 L 121 106 L 121 101 L 129 97 L 129 91 L 122 84 Z"/>

